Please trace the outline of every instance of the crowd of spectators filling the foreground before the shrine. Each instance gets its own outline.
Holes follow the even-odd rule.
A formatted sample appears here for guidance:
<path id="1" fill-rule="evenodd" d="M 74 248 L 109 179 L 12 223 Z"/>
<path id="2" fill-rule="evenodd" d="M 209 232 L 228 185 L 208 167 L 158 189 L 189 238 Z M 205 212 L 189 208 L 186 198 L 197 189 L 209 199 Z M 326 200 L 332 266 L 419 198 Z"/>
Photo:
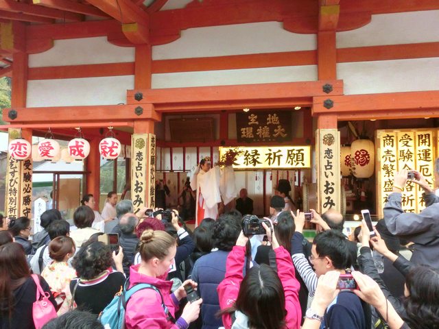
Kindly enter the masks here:
<path id="1" fill-rule="evenodd" d="M 416 171 L 427 208 L 405 213 L 406 181 L 407 171 L 395 174 L 375 234 L 363 221 L 356 242 L 332 209 L 311 210 L 318 232 L 305 239 L 305 213 L 285 186 L 263 220 L 232 210 L 193 231 L 176 210 L 134 214 L 132 202 L 117 202 L 115 193 L 108 193 L 102 215 L 93 195 L 85 195 L 74 226 L 47 210 L 32 239 L 28 218 L 0 217 L 0 328 L 38 328 L 32 274 L 58 315 L 47 329 L 104 328 L 99 315 L 131 289 L 119 305 L 128 329 L 439 328 L 439 197 Z M 237 208 L 251 212 L 247 192 L 240 194 Z M 192 202 L 193 195 L 182 197 Z M 410 260 L 399 253 L 408 242 Z M 377 269 L 375 254 L 401 281 Z"/>

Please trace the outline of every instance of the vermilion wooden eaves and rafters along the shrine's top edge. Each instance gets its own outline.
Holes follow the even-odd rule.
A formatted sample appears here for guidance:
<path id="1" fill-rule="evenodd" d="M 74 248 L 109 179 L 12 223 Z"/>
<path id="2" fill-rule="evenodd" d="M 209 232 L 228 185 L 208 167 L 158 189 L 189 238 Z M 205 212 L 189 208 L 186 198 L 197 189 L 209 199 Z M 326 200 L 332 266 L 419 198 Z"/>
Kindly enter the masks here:
<path id="1" fill-rule="evenodd" d="M 93 34 L 99 29 L 110 42 L 132 47 L 171 42 L 193 27 L 279 21 L 290 32 L 309 34 L 356 29 L 372 14 L 439 9 L 438 0 L 193 0 L 184 8 L 161 10 L 168 1 L 0 0 L 0 34 L 4 39 L 13 34 L 8 29 L 24 25 L 22 35 L 32 40 L 22 40 L 23 49 L 38 53 L 51 47 L 49 39 L 99 35 Z M 10 74 L 14 51 L 2 43 L 0 76 Z"/>

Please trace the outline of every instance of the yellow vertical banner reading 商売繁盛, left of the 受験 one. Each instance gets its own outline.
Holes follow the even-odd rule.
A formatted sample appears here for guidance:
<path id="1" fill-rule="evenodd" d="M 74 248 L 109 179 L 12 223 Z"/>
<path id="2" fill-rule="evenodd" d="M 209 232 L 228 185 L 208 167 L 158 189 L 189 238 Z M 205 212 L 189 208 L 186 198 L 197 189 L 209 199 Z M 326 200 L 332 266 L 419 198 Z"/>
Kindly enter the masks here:
<path id="1" fill-rule="evenodd" d="M 377 130 L 375 135 L 377 148 L 377 207 L 379 218 L 383 217 L 383 205 L 392 193 L 393 176 L 398 170 L 396 156 L 396 132 Z"/>

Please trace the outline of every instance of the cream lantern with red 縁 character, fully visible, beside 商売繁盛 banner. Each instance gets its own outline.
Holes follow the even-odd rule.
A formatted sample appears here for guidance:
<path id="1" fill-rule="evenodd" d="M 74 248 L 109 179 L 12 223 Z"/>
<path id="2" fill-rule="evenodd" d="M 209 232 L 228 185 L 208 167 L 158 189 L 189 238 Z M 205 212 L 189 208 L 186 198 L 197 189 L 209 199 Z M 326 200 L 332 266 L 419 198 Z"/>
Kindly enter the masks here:
<path id="1" fill-rule="evenodd" d="M 357 139 L 351 144 L 353 174 L 356 178 L 370 178 L 375 168 L 375 145 L 368 139 Z"/>

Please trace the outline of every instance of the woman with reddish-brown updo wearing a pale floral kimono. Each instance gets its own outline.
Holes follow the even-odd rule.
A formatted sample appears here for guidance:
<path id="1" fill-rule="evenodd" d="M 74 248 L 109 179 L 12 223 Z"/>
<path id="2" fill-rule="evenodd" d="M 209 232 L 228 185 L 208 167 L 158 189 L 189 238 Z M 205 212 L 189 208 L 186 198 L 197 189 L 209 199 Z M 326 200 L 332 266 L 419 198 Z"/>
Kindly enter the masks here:
<path id="1" fill-rule="evenodd" d="M 41 276 L 49 284 L 58 305 L 58 315 L 69 310 L 71 303 L 70 282 L 76 277 L 75 269 L 67 260 L 75 254 L 75 243 L 69 236 L 58 236 L 49 243 L 49 256 L 53 261 L 45 267 Z"/>

